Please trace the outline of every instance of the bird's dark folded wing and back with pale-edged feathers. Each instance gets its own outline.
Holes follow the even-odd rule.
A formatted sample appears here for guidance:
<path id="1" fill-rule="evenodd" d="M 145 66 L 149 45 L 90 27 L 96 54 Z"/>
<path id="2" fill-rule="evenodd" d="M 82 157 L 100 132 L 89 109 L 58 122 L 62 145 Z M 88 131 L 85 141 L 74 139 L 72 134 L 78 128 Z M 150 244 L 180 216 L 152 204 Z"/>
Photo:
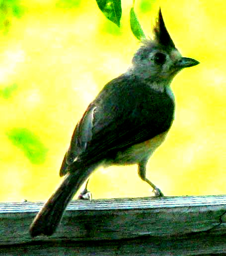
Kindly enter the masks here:
<path id="1" fill-rule="evenodd" d="M 61 175 L 68 165 L 89 165 L 170 128 L 174 103 L 166 93 L 128 77 L 109 82 L 75 127 Z M 70 169 L 73 169 L 70 167 Z"/>

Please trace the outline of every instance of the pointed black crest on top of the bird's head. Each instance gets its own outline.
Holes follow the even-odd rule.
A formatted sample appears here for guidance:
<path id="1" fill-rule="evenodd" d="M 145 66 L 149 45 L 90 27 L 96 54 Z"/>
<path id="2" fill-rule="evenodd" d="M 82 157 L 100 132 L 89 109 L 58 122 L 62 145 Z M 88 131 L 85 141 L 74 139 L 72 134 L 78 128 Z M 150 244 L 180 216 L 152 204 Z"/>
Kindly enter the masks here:
<path id="1" fill-rule="evenodd" d="M 171 48 L 171 49 L 175 48 L 173 40 L 171 39 L 171 37 L 165 27 L 165 23 L 164 23 L 160 8 L 159 8 L 156 24 L 153 28 L 153 33 L 154 33 L 155 41 L 157 41 L 159 44 L 161 44 L 162 46 L 164 46 L 166 48 Z"/>

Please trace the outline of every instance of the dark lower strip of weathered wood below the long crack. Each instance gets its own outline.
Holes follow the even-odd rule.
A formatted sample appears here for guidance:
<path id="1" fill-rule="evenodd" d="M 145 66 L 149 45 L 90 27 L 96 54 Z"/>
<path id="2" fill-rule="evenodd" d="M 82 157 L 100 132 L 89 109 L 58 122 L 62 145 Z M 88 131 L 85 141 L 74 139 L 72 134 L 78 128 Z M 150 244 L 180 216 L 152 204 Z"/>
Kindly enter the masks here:
<path id="1" fill-rule="evenodd" d="M 186 237 L 146 236 L 113 241 L 33 241 L 1 246 L 0 256 L 225 256 L 225 236 L 190 234 Z"/>

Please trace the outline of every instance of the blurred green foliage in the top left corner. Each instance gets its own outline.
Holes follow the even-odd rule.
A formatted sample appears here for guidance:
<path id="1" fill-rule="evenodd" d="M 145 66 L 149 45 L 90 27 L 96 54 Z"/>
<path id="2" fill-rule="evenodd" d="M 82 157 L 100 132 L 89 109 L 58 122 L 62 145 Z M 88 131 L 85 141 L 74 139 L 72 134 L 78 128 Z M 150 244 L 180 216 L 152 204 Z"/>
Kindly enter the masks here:
<path id="1" fill-rule="evenodd" d="M 7 33 L 12 17 L 20 18 L 24 13 L 20 0 L 0 0 L 0 30 Z"/>

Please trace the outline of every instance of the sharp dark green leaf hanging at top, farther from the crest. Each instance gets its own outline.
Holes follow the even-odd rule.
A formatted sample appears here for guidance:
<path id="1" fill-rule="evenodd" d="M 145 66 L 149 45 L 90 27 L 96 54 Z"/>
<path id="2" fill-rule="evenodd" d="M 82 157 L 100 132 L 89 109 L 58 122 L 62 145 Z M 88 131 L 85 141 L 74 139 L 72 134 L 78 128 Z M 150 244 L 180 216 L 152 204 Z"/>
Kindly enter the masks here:
<path id="1" fill-rule="evenodd" d="M 96 2 L 106 18 L 119 27 L 122 16 L 121 0 L 96 0 Z"/>

